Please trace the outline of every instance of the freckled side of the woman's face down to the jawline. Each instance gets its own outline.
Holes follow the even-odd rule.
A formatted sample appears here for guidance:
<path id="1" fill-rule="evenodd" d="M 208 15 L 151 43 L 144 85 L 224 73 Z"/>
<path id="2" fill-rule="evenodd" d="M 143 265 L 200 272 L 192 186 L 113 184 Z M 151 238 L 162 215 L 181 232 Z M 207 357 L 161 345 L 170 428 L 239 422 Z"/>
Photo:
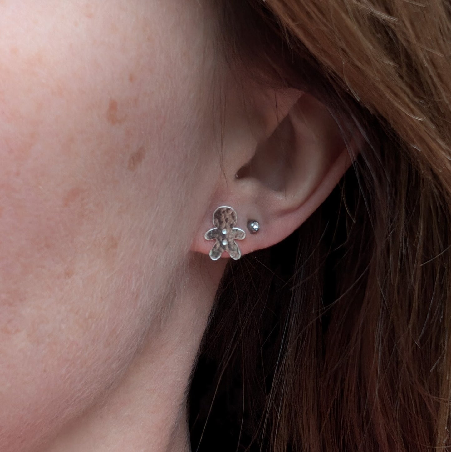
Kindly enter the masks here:
<path id="1" fill-rule="evenodd" d="M 198 226 L 184 219 L 200 222 L 218 165 L 208 14 L 195 0 L 0 2 L 2 451 L 114 384 L 171 301 Z"/>

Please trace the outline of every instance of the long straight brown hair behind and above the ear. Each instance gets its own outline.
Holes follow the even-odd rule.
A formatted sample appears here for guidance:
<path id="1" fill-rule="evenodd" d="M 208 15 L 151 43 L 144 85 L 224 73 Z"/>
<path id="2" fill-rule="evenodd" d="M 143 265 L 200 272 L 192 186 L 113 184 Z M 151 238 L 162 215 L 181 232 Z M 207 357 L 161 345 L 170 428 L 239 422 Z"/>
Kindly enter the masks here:
<path id="1" fill-rule="evenodd" d="M 307 87 L 366 145 L 298 231 L 229 267 L 191 387 L 193 450 L 449 450 L 450 6 L 222 14 L 231 60 Z"/>

